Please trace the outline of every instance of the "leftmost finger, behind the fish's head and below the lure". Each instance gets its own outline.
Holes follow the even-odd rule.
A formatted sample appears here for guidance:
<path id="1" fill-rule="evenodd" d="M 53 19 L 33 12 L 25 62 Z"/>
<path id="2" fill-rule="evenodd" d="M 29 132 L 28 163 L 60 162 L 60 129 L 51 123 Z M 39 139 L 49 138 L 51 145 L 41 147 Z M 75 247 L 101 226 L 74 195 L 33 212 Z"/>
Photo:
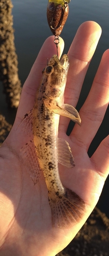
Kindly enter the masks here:
<path id="1" fill-rule="evenodd" d="M 60 38 L 60 44 L 58 46 L 59 58 L 63 52 L 63 49 L 64 41 L 62 38 Z M 54 44 L 54 37 L 50 36 L 45 40 L 31 69 L 31 72 L 22 88 L 19 108 L 17 112 L 18 118 L 22 118 L 24 114 L 33 108 L 35 94 L 42 77 L 42 70 L 47 65 L 47 59 L 51 58 L 53 54 L 57 54 L 57 49 L 56 45 Z"/>

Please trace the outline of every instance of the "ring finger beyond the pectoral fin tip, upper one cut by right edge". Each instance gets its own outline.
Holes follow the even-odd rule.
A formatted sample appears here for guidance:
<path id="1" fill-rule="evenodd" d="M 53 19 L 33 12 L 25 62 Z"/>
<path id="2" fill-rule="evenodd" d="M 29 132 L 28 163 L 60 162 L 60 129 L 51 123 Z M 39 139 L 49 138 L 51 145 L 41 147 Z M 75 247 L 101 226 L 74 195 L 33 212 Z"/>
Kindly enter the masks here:
<path id="1" fill-rule="evenodd" d="M 81 127 L 74 127 L 72 135 L 79 145 L 89 148 L 103 120 L 109 101 L 109 50 L 102 56 L 90 93 L 81 108 Z M 80 128 L 80 129 L 79 129 Z"/>

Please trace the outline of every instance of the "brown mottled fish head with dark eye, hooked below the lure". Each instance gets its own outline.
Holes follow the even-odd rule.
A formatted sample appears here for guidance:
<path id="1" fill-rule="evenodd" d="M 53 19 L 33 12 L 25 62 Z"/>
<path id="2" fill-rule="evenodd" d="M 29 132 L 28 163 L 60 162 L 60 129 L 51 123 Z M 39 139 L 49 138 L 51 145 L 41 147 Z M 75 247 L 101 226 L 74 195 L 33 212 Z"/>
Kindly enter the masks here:
<path id="1" fill-rule="evenodd" d="M 68 68 L 69 60 L 67 54 L 64 54 L 61 59 L 56 54 L 49 59 L 44 69 L 44 75 L 46 76 L 46 96 L 52 99 L 63 96 Z"/>

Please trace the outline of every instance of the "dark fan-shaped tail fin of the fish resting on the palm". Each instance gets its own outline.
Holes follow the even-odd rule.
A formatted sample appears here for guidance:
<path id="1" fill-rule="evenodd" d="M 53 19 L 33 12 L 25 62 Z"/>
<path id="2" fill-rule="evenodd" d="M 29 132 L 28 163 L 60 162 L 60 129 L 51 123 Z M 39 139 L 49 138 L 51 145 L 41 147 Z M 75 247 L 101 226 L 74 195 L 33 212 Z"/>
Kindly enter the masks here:
<path id="1" fill-rule="evenodd" d="M 85 202 L 68 188 L 65 188 L 63 196 L 57 195 L 54 200 L 49 195 L 48 200 L 53 227 L 68 228 L 70 224 L 78 222 L 84 215 Z"/>

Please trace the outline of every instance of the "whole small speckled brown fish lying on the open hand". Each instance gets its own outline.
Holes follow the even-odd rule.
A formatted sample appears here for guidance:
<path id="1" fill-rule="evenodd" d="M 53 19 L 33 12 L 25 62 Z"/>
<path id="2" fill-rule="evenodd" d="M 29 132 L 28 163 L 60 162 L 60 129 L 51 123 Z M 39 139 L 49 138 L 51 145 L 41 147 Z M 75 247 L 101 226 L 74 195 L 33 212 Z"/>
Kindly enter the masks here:
<path id="1" fill-rule="evenodd" d="M 23 118 L 23 130 L 33 130 L 33 139 L 21 148 L 21 156 L 34 184 L 43 172 L 53 227 L 65 228 L 77 223 L 84 215 L 85 202 L 76 193 L 63 186 L 58 163 L 74 167 L 69 143 L 58 137 L 60 115 L 80 125 L 77 110 L 64 103 L 64 91 L 69 59 L 55 54 L 42 72 L 33 110 Z M 30 161 L 31 159 L 31 161 Z M 31 162 L 31 164 L 30 164 Z"/>

